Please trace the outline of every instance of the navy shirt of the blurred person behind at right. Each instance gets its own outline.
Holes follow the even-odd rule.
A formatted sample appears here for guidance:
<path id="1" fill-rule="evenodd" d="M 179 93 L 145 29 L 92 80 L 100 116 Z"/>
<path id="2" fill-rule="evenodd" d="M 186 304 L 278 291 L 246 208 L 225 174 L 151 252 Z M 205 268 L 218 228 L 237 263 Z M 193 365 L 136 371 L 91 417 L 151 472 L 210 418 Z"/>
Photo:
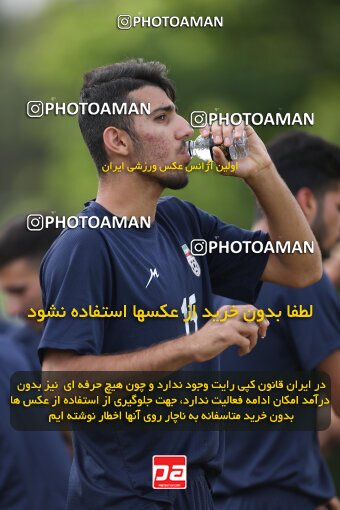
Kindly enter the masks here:
<path id="1" fill-rule="evenodd" d="M 219 305 L 226 300 L 220 300 Z M 283 310 L 302 305 L 311 318 L 270 319 L 267 336 L 247 356 L 234 347 L 221 355 L 222 370 L 312 370 L 340 349 L 340 310 L 333 285 L 322 279 L 304 289 L 265 283 L 255 303 L 258 308 Z M 308 431 L 225 432 L 225 462 L 215 484 L 215 505 L 224 509 L 225 498 L 259 486 L 287 488 L 315 498 L 316 503 L 335 495 L 317 435 Z"/>

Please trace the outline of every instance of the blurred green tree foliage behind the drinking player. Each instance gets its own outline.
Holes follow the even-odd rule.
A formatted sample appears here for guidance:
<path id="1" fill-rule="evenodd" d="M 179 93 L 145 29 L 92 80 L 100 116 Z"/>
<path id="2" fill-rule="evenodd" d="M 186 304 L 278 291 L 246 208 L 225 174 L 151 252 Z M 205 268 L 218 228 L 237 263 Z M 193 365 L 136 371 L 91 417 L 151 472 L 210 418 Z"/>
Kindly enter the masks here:
<path id="1" fill-rule="evenodd" d="M 119 14 L 224 16 L 223 28 L 118 30 Z M 78 211 L 96 190 L 96 171 L 76 117 L 25 117 L 25 101 L 77 101 L 85 71 L 130 57 L 166 63 L 178 106 L 193 110 L 315 113 L 313 133 L 337 141 L 340 4 L 326 0 L 224 3 L 59 1 L 41 16 L 4 27 L 0 217 L 45 208 Z M 268 141 L 283 128 L 258 128 Z M 286 129 L 286 128 L 285 128 Z M 204 181 L 203 181 L 204 179 Z M 252 197 L 238 179 L 196 175 L 177 192 L 223 219 L 248 226 Z M 222 184 L 223 183 L 223 184 Z M 202 192 L 204 190 L 204 192 Z"/>

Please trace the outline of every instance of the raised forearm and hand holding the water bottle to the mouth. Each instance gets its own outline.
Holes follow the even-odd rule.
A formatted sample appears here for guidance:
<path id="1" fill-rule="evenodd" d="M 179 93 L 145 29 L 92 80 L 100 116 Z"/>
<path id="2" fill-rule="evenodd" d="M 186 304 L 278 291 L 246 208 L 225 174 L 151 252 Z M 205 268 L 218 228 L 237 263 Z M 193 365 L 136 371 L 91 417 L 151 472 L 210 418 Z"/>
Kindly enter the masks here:
<path id="1" fill-rule="evenodd" d="M 216 137 L 225 139 L 230 145 L 232 126 L 213 125 L 211 131 Z M 236 126 L 235 138 L 245 130 L 248 143 L 248 157 L 238 161 L 234 176 L 241 177 L 253 190 L 266 214 L 269 234 L 272 241 L 308 241 L 314 242 L 314 253 L 278 253 L 270 255 L 262 279 L 304 287 L 318 281 L 322 275 L 321 254 L 315 237 L 295 198 L 283 182 L 270 159 L 268 151 L 251 126 Z M 217 165 L 225 165 L 227 160 L 223 152 L 214 147 L 214 160 Z M 228 174 L 226 174 L 228 175 Z"/>

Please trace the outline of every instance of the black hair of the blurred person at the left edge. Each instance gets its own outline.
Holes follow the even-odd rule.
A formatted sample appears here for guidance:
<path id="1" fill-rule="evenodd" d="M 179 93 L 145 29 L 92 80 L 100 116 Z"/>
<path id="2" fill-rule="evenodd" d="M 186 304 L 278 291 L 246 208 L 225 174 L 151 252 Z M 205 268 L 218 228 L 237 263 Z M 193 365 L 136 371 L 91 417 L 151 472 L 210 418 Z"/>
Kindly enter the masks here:
<path id="1" fill-rule="evenodd" d="M 40 263 L 62 230 L 54 227 L 28 230 L 26 220 L 26 216 L 16 217 L 0 230 L 0 268 L 20 258 Z"/>

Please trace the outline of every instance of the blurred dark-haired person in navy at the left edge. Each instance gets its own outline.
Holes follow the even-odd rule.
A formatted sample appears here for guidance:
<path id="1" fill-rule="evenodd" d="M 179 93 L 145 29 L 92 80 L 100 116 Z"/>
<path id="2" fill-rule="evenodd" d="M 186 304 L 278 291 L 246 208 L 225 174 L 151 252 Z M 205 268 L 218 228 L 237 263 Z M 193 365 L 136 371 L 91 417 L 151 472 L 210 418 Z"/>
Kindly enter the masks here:
<path id="1" fill-rule="evenodd" d="M 57 237 L 56 229 L 28 231 L 26 217 L 0 229 L 0 290 L 5 308 L 25 326 L 0 322 L 0 508 L 64 510 L 71 465 L 70 434 L 18 431 L 10 423 L 10 378 L 16 371 L 39 370 L 41 326 L 27 318 L 40 308 L 39 267 Z"/>

